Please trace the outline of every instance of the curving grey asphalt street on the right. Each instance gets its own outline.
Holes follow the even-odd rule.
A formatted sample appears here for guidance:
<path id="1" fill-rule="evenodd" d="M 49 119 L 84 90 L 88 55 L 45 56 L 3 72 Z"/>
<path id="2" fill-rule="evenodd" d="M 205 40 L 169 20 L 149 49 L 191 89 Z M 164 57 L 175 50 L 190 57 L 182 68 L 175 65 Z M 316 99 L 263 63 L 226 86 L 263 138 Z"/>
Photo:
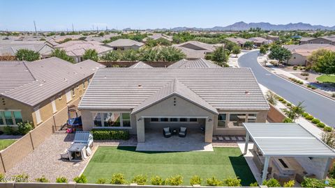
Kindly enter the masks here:
<path id="1" fill-rule="evenodd" d="M 335 127 L 335 101 L 313 91 L 292 84 L 263 68 L 257 61 L 258 51 L 249 52 L 239 58 L 239 66 L 251 68 L 258 83 L 278 93 L 293 104 L 304 101 L 306 111 L 329 126 Z"/>

